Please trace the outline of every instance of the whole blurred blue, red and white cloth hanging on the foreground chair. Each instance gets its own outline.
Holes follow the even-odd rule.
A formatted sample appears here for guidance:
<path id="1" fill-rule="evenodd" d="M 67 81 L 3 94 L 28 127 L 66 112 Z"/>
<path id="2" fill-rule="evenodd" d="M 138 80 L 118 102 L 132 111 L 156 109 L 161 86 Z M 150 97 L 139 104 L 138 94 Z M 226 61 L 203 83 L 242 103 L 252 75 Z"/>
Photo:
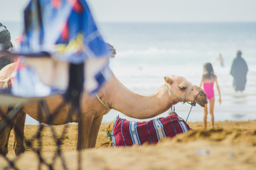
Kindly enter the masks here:
<path id="1" fill-rule="evenodd" d="M 30 1 L 24 18 L 20 48 L 12 52 L 21 55 L 12 94 L 48 96 L 57 89 L 70 98 L 82 89 L 95 93 L 111 77 L 110 50 L 86 1 Z"/>

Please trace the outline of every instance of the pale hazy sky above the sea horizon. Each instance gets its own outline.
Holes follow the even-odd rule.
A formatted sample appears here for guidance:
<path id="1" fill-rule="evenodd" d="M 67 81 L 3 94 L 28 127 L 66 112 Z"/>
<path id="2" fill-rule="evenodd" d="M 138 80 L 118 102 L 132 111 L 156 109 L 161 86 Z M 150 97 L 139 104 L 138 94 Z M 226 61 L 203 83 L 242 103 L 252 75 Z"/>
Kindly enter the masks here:
<path id="1" fill-rule="evenodd" d="M 22 21 L 28 0 L 0 0 L 0 22 Z M 97 22 L 256 22 L 256 0 L 87 0 Z"/>

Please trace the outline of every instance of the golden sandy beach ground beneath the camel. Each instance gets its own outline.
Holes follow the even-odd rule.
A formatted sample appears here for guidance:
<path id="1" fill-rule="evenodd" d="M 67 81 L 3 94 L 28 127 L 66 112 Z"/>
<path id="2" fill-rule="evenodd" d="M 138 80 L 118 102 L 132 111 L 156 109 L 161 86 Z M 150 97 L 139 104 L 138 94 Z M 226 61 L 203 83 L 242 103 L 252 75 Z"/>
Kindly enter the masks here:
<path id="1" fill-rule="evenodd" d="M 162 140 L 156 145 L 133 147 L 102 146 L 109 142 L 102 124 L 97 139 L 97 148 L 86 149 L 82 154 L 82 169 L 255 169 L 256 167 L 256 120 L 216 122 L 215 130 L 203 130 L 202 123 L 188 123 L 193 130 L 172 139 Z M 53 126 L 58 135 L 63 125 Z M 31 142 L 38 125 L 26 125 L 25 136 Z M 68 125 L 61 145 L 68 169 L 78 169 L 78 152 L 75 152 L 78 126 Z M 43 158 L 52 162 L 56 147 L 50 127 L 43 132 Z M 13 135 L 9 141 L 9 159 L 15 159 L 12 149 Z M 35 140 L 34 147 L 38 146 Z M 6 160 L 0 157 L 0 169 L 6 167 Z M 38 169 L 38 159 L 31 149 L 21 154 L 15 162 L 19 169 Z M 43 166 L 43 169 L 46 166 Z M 54 169 L 63 169 L 56 159 Z"/>

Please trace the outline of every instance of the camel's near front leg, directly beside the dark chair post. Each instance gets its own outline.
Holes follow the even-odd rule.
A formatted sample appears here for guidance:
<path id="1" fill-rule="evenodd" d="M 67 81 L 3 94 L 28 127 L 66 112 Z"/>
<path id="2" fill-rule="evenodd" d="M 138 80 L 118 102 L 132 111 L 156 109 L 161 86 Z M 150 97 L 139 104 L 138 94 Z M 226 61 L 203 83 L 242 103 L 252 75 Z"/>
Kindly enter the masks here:
<path id="1" fill-rule="evenodd" d="M 86 148 L 93 117 L 91 114 L 81 114 L 78 118 L 78 150 Z"/>

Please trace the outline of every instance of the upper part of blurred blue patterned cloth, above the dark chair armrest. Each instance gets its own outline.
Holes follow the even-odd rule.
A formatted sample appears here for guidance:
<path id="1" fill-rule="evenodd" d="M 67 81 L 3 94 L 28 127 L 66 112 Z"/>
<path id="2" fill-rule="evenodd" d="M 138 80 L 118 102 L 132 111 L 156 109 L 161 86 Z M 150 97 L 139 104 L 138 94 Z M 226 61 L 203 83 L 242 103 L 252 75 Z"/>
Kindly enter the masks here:
<path id="1" fill-rule="evenodd" d="M 51 1 L 30 1 L 26 7 L 20 53 L 49 52 L 58 60 L 75 64 L 110 55 L 85 0 L 73 4 L 60 1 L 59 6 Z"/>

